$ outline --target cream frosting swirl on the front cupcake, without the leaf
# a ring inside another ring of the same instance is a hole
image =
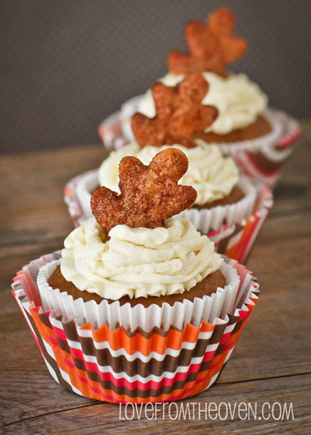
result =
[[[109,236],[103,241],[100,224],[88,219],[65,239],[60,263],[67,281],[102,298],[184,293],[223,263],[187,219],[173,217],[156,229],[117,225]]]

